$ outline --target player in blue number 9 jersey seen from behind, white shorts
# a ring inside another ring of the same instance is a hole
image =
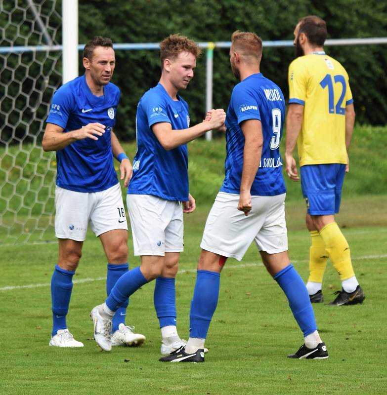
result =
[[[289,357],[328,358],[305,285],[289,260],[286,189],[279,152],[285,99],[281,89],[260,73],[261,57],[262,40],[255,33],[233,33],[230,63],[241,82],[234,87],[227,109],[225,178],[200,244],[190,337],[186,346],[162,357],[163,362],[204,362],[220,273],[228,257],[242,260],[253,241],[267,271],[287,296],[303,332],[304,344]]]

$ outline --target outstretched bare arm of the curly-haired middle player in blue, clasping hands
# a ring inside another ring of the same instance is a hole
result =
[[[209,121],[203,121],[188,129],[174,130],[169,122],[155,123],[151,126],[151,129],[163,148],[169,151],[196,139],[209,130],[221,127],[225,118],[226,113],[224,110],[217,109],[212,112],[212,117]]]

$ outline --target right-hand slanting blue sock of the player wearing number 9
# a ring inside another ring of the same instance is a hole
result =
[[[282,269],[274,276],[274,279],[285,292],[290,309],[303,332],[303,336],[305,337],[317,330],[308,291],[293,265]]]

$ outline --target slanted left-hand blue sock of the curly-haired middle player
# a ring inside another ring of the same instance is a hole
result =
[[[110,295],[105,301],[107,307],[111,311],[116,312],[127,302],[127,299],[132,293],[147,282],[149,281],[142,275],[139,266],[129,270],[129,272],[126,272],[117,280],[111,290]]]

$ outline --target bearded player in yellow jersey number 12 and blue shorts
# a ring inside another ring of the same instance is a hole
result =
[[[289,66],[289,111],[286,119],[286,172],[299,181],[293,151],[298,145],[301,189],[310,232],[309,278],[311,302],[323,302],[322,281],[328,257],[342,280],[342,290],[330,305],[354,305],[365,299],[352,268],[348,242],[335,222],[355,112],[348,74],[324,52],[325,22],[302,18],[294,31],[296,56]]]

